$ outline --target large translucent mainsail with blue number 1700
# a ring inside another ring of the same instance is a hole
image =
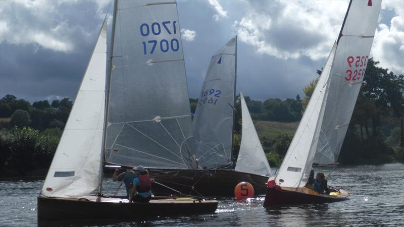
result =
[[[195,168],[175,1],[117,1],[106,153],[109,163]]]

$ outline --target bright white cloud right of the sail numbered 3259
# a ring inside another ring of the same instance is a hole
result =
[[[379,24],[372,46],[372,56],[380,67],[395,74],[404,74],[404,7],[401,1],[384,1],[382,9],[391,10],[394,16],[390,25]]]

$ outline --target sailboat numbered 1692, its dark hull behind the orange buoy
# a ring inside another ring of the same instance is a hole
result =
[[[198,97],[192,122],[198,168],[160,170],[151,175],[169,188],[184,194],[233,197],[236,185],[248,182],[256,195],[266,192],[265,183],[271,171],[243,98],[241,148],[236,169],[231,169],[236,52],[237,37],[234,37],[212,56]],[[155,191],[173,193],[167,187],[155,187]]]

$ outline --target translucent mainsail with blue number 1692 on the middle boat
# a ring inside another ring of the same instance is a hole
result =
[[[199,166],[215,168],[231,163],[236,37],[211,58],[193,119]]]

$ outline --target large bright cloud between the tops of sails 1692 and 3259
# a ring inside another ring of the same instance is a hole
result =
[[[346,2],[249,2],[233,27],[256,52],[280,59],[328,55],[345,14]]]

